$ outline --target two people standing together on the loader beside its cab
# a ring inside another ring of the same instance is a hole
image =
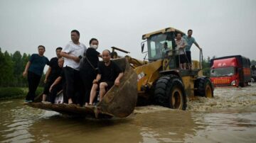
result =
[[[202,50],[201,47],[196,42],[195,38],[192,37],[193,30],[188,30],[188,35],[182,37],[181,33],[176,35],[176,50],[178,56],[176,61],[179,61],[180,69],[191,69],[191,46],[193,43],[198,47],[199,50]]]

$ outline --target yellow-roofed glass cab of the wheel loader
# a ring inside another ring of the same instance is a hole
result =
[[[176,56],[178,55],[178,50],[176,50],[175,44],[177,33],[181,33],[182,36],[185,35],[185,33],[174,28],[165,28],[154,33],[142,35],[142,39],[145,40],[142,42],[142,52],[144,44],[146,44],[149,62],[163,60],[164,71],[179,69],[179,57]]]

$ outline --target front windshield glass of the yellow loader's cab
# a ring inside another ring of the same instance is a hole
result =
[[[152,35],[147,40],[149,60],[161,59],[166,51],[172,50],[171,33]]]

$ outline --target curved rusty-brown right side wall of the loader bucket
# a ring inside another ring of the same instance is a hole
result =
[[[125,57],[113,61],[124,71],[124,76],[119,87],[112,86],[107,91],[102,101],[97,104],[97,109],[100,110],[100,113],[124,118],[133,112],[137,103],[137,74]]]

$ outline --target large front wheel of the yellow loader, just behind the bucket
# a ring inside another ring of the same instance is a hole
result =
[[[186,93],[178,76],[162,76],[156,81],[154,91],[156,105],[168,108],[186,110]]]

